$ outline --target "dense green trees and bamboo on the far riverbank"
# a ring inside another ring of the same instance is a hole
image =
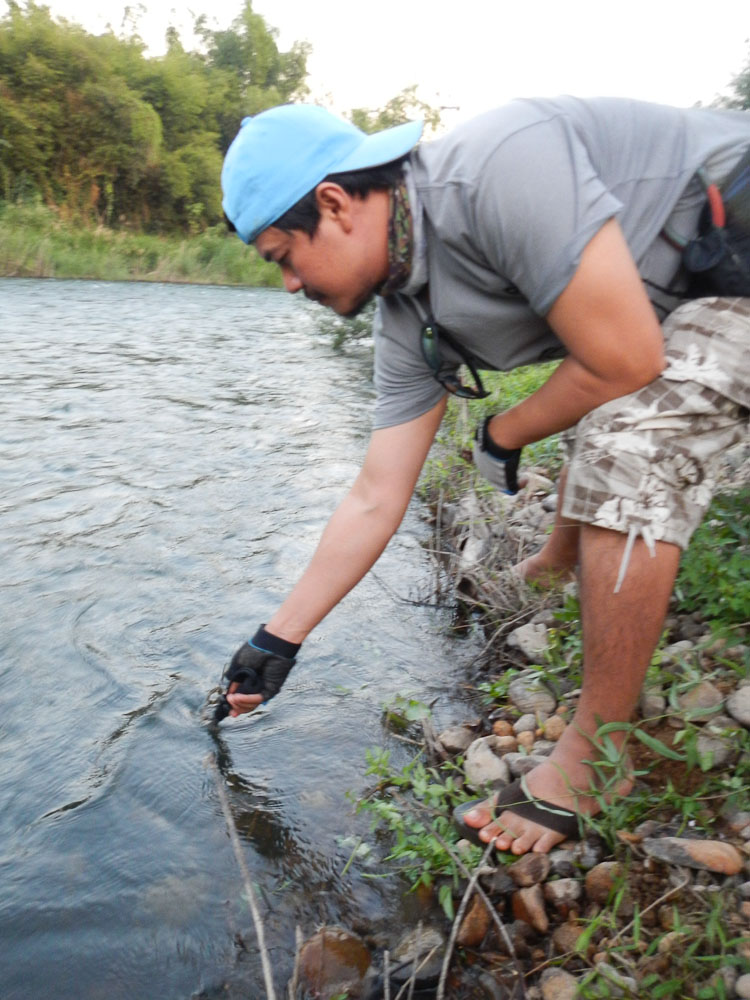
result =
[[[280,52],[246,0],[231,28],[176,31],[147,58],[129,37],[88,34],[11,0],[0,19],[0,199],[41,199],[62,218],[152,231],[221,218],[224,151],[248,114],[305,93],[308,46]]]

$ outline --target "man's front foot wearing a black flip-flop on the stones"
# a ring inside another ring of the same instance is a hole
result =
[[[605,772],[607,787],[602,788],[602,778],[590,764],[585,763],[596,760],[598,756],[591,741],[573,730],[572,726],[569,727],[549,760],[526,775],[525,786],[529,796],[543,800],[547,807],[556,806],[579,816],[596,815],[601,810],[602,796],[610,800],[627,795],[633,787],[629,775],[607,780],[609,776]],[[591,794],[597,787],[600,788],[599,796]],[[520,816],[512,809],[506,809],[493,820],[490,801],[467,812],[462,819],[467,826],[479,830],[479,839],[483,843],[488,844],[494,839],[497,850],[513,854],[529,851],[546,854],[565,839],[562,833],[542,822]]]

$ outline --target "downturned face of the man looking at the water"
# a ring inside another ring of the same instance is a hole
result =
[[[314,236],[269,226],[255,247],[265,260],[279,265],[288,292],[302,291],[340,316],[352,316],[388,276],[387,216],[383,225],[377,193],[361,200],[338,192],[340,188],[324,199]]]

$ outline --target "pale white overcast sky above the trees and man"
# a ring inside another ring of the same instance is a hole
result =
[[[54,16],[119,31],[124,0],[45,0]],[[416,83],[446,123],[514,97],[595,94],[689,106],[726,92],[750,57],[750,0],[255,0],[282,49],[312,45],[311,99],[378,107]],[[241,0],[131,4],[149,50],[206,13],[229,27]],[[0,0],[0,12],[7,10]]]

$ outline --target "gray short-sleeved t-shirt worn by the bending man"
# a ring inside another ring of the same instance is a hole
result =
[[[563,97],[516,101],[419,146],[408,177],[413,278],[379,300],[375,323],[375,427],[414,419],[444,394],[421,353],[428,314],[480,368],[562,356],[544,317],[613,217],[667,315],[679,253],[660,234],[669,223],[694,235],[705,201],[696,171],[720,180],[748,145],[746,112]]]

